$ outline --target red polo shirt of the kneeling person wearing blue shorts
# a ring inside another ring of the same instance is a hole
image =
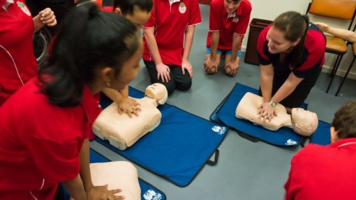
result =
[[[250,1],[242,0],[239,8],[232,15],[228,14],[224,6],[225,0],[213,0],[210,6],[209,33],[207,47],[212,43],[212,31],[219,31],[218,49],[232,49],[232,36],[238,34],[244,37],[249,26],[252,6]]]

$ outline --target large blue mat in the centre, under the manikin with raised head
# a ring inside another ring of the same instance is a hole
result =
[[[132,88],[129,94],[133,98],[144,97],[144,93]],[[105,98],[101,99],[102,107],[110,103]],[[165,104],[158,109],[162,114],[160,125],[125,151],[98,137],[96,141],[175,185],[186,187],[206,163],[216,164],[217,148],[228,128],[172,105]],[[215,162],[212,162],[209,158],[214,153]]]

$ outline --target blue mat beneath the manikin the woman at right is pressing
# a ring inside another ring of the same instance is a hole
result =
[[[221,123],[234,128],[237,132],[247,134],[255,141],[261,140],[276,146],[298,146],[301,143],[303,137],[290,128],[282,127],[279,130],[271,131],[259,125],[253,125],[250,121],[236,118],[235,109],[246,92],[258,94],[257,89],[243,84],[235,84],[228,97],[223,100],[222,104],[212,114],[212,121],[221,121]]]

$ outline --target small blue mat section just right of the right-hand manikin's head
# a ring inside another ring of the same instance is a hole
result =
[[[318,129],[311,135],[310,143],[328,145],[331,143],[329,123],[319,121]]]

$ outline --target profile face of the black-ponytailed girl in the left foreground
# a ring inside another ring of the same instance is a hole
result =
[[[135,54],[131,56],[131,58],[127,59],[124,65],[122,66],[121,72],[117,75],[116,78],[111,78],[111,86],[110,88],[121,91],[128,85],[135,77],[138,75],[138,71],[140,70],[140,60],[142,57],[142,40],[138,45],[138,49],[136,49]],[[112,70],[113,72],[113,70]]]

